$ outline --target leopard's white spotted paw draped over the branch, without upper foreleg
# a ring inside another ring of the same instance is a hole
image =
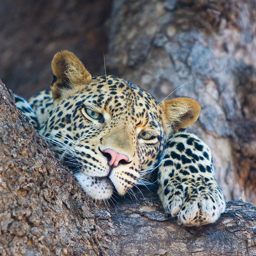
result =
[[[215,180],[208,184],[204,178],[197,182],[192,179],[178,186],[168,184],[159,192],[165,211],[184,226],[214,223],[225,211],[225,200]]]

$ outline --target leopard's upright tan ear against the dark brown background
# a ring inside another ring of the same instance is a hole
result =
[[[88,84],[92,76],[83,63],[70,51],[59,51],[51,62],[53,81],[51,90],[53,99],[61,97],[65,89],[72,89],[78,85]]]

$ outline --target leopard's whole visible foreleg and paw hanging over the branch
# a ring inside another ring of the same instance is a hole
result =
[[[211,151],[195,134],[180,132],[168,140],[158,178],[165,211],[185,226],[213,223],[225,211]]]

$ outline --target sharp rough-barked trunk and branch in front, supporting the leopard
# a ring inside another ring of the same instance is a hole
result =
[[[0,255],[255,255],[256,208],[228,203],[215,224],[178,226],[154,193],[92,202],[0,81]]]

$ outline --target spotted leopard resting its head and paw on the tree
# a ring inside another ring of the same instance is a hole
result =
[[[51,62],[49,89],[28,101],[28,117],[93,200],[156,184],[165,213],[184,226],[214,223],[225,211],[209,147],[186,132],[200,114],[192,97],[157,102],[128,80],[92,77],[74,53]]]

